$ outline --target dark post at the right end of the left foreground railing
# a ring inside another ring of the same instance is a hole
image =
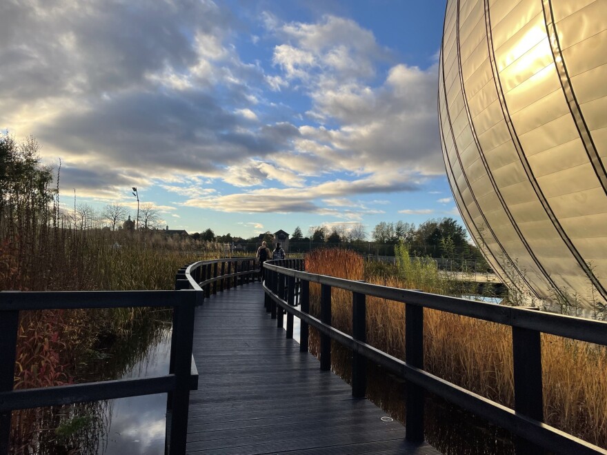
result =
[[[185,293],[185,292],[184,292]],[[195,292],[186,295],[173,310],[175,338],[175,391],[172,393],[172,412],[169,454],[185,454],[188,436],[188,410],[190,407],[190,371],[192,367],[192,341],[194,338]]]

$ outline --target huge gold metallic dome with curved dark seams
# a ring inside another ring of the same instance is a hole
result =
[[[448,0],[438,104],[455,201],[515,300],[597,314],[607,0]]]

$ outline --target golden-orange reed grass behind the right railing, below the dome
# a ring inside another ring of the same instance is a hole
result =
[[[317,250],[306,257],[312,273],[361,279],[391,287],[437,292],[448,289],[423,262],[408,261],[394,267],[371,266],[346,250]],[[406,276],[406,278],[404,278]],[[332,293],[332,325],[351,334],[350,292]],[[319,285],[310,284],[310,311],[319,314]],[[404,304],[367,297],[367,341],[393,356],[404,359]],[[310,351],[317,354],[319,336],[310,333]],[[335,349],[332,368],[348,378],[350,353]],[[607,348],[568,338],[542,334],[541,354],[544,383],[544,416],[549,425],[590,443],[607,447]],[[424,363],[428,372],[465,387],[508,407],[514,405],[513,354],[510,327],[477,319],[424,310]],[[381,380],[376,376],[377,381]],[[376,403],[396,418],[403,418],[403,404],[386,396],[386,387],[375,387]],[[370,391],[374,389],[370,387]],[[397,393],[398,394],[398,393]],[[370,398],[373,399],[372,396]],[[396,404],[395,404],[396,403]]]

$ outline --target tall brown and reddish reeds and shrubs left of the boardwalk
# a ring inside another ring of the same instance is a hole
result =
[[[170,290],[179,267],[219,256],[219,245],[161,231],[77,230],[61,210],[52,182],[52,169],[41,165],[34,139],[17,144],[0,135],[0,290]],[[170,312],[154,308],[22,311],[14,388],[117,378],[166,328],[168,318]],[[118,355],[116,347],[126,352]],[[112,361],[99,368],[100,356]],[[99,440],[100,406],[13,412],[12,453],[91,449]],[[61,437],[50,425],[63,427]],[[81,447],[73,446],[77,441],[67,430],[82,435]]]

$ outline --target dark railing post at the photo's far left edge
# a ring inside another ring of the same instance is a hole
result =
[[[14,384],[18,330],[19,311],[0,312],[0,392],[10,392]],[[10,411],[0,414],[0,454],[8,454],[10,449],[10,414]]]

